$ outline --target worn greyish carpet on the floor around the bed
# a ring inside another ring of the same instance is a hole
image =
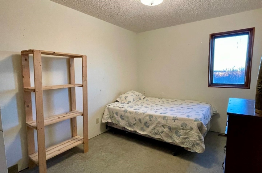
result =
[[[173,156],[173,145],[131,133],[108,131],[89,140],[89,152],[75,147],[47,161],[48,173],[219,173],[223,172],[226,137],[208,132],[203,154],[182,150]],[[22,173],[38,172],[35,169]]]

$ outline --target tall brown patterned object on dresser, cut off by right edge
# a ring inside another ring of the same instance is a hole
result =
[[[255,112],[262,114],[262,57],[260,61],[257,83],[256,83]]]

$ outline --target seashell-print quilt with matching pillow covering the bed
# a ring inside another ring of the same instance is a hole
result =
[[[203,153],[204,137],[215,113],[209,103],[145,97],[129,91],[106,106],[102,123]]]

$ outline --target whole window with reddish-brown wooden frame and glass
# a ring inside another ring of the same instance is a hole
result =
[[[250,88],[254,31],[210,34],[208,87]]]

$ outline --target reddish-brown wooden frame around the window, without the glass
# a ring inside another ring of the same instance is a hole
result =
[[[248,33],[248,50],[246,57],[245,66],[245,83],[244,84],[218,84],[213,83],[213,71],[214,71],[214,41],[215,38],[223,38],[225,36],[239,36]],[[255,27],[240,29],[235,31],[218,32],[209,35],[209,61],[208,61],[208,87],[219,87],[219,88],[246,88],[250,89],[251,80],[251,66],[252,66],[252,55],[253,55],[253,44],[255,36]],[[215,37],[215,38],[214,38]]]

